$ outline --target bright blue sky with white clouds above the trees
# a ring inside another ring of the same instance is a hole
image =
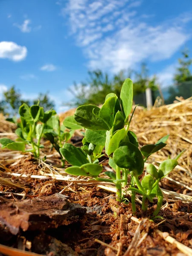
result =
[[[111,75],[148,64],[162,87],[180,51],[192,56],[192,0],[0,0],[0,98],[49,91],[58,112],[67,90],[100,68]]]

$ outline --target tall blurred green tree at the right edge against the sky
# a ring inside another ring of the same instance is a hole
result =
[[[188,49],[184,49],[182,58],[179,58],[178,62],[179,67],[173,79],[175,85],[171,86],[168,90],[170,96],[165,101],[166,104],[174,102],[176,96],[182,96],[184,99],[192,96],[192,73],[190,71],[192,59],[189,58]]]

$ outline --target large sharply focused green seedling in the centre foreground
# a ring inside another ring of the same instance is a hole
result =
[[[77,108],[74,116],[69,117],[66,123],[68,122],[71,128],[73,126],[71,122],[75,121],[85,128],[83,146],[75,148],[73,145],[65,144],[60,152],[72,165],[65,170],[67,173],[114,183],[117,201],[121,202],[124,199],[122,195],[126,193],[127,189],[131,190],[133,213],[136,212],[136,193],[143,195],[143,211],[148,208],[148,201],[153,203],[153,198],[156,197],[157,208],[153,213],[156,216],[163,202],[163,194],[158,183],[175,168],[180,155],[175,159],[163,161],[158,171],[155,166],[149,164],[148,174],[140,181],[139,176],[144,171],[145,161],[151,154],[166,146],[169,135],[161,138],[154,145],[143,146],[140,150],[136,134],[129,130],[135,111],[134,109],[130,116],[132,103],[133,83],[131,79],[126,79],[122,85],[120,100],[114,93],[110,93],[106,96],[102,108],[96,105],[82,105]],[[102,156],[104,145],[105,153],[109,157],[109,165],[114,170],[105,172],[108,179],[99,177],[102,166],[98,159]],[[129,187],[128,175],[131,176]],[[122,193],[122,189],[125,190],[124,193]]]

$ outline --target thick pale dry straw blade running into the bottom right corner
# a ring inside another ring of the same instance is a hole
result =
[[[131,217],[131,219],[137,223],[141,223],[140,220],[138,220],[135,217]],[[170,244],[175,244],[177,249],[179,249],[182,253],[184,253],[187,256],[192,256],[192,249],[187,247],[184,244],[181,244],[178,242],[175,238],[172,236],[169,236],[169,233],[167,232],[161,232],[160,230],[154,230],[158,235],[160,235],[165,241],[169,242]],[[125,255],[124,255],[125,256]]]

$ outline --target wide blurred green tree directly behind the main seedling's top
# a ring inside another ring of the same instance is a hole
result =
[[[121,70],[111,79],[107,73],[103,73],[101,70],[89,71],[88,75],[89,78],[86,82],[74,83],[74,87],[69,88],[74,95],[74,102],[67,102],[64,105],[70,107],[84,104],[100,105],[105,102],[105,96],[108,93],[116,93],[120,97],[121,87],[126,78],[133,79],[134,77],[134,96],[145,92],[147,87],[157,90],[156,77],[149,78],[146,64],[142,64],[141,70],[138,72]]]

